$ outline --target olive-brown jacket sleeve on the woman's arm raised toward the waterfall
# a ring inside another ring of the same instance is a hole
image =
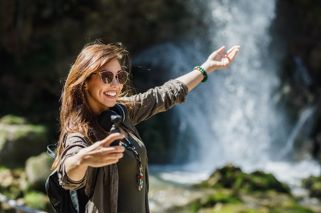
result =
[[[175,104],[184,103],[187,93],[188,88],[183,82],[169,80],[162,86],[123,98],[123,100],[133,103],[133,107],[129,109],[128,115],[134,125],[136,125],[158,112],[172,108]]]

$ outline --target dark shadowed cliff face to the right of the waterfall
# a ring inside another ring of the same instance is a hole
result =
[[[298,111],[315,107],[303,142],[310,140],[313,156],[321,160],[321,2],[278,0],[272,29],[274,46],[284,52],[279,76],[290,88],[283,100],[293,120]]]

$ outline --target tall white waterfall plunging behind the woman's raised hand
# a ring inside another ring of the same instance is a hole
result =
[[[191,3],[192,11],[198,11],[199,3],[207,4],[209,10],[204,22],[213,27],[208,32],[200,33],[194,42],[156,45],[134,59],[136,63],[162,65],[170,70],[170,77],[175,78],[207,59],[202,46],[213,51],[222,45],[226,50],[232,45],[240,45],[230,67],[209,75],[206,83],[200,83],[188,94],[186,103],[172,109],[179,124],[179,134],[174,138],[177,159],[182,157],[179,149],[190,145],[189,159],[178,167],[173,165],[175,169],[164,173],[163,177],[175,179],[173,170],[179,168],[181,172],[197,171],[195,179],[199,180],[200,173],[209,174],[227,163],[245,172],[258,169],[272,172],[286,181],[291,177],[284,172],[289,175],[290,168],[297,169],[293,173],[296,177],[298,173],[301,176],[318,174],[316,162],[309,159],[289,162],[280,157],[284,152],[293,152],[287,147],[292,146],[295,138],[291,131],[295,130],[273,99],[280,84],[277,64],[269,50],[272,40],[269,28],[275,16],[275,2],[197,1]],[[201,35],[207,38],[202,39]],[[209,43],[204,43],[205,40]],[[308,112],[303,119],[312,116],[311,110]],[[187,137],[187,133],[192,138]],[[187,143],[188,140],[194,140],[194,143]],[[188,178],[191,181],[193,177],[189,175]]]

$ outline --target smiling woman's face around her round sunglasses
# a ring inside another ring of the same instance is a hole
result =
[[[96,70],[94,73],[97,74],[91,75],[86,79],[84,84],[85,96],[95,116],[109,109],[109,107],[115,106],[116,100],[123,89],[123,85],[117,82],[116,76],[114,76],[110,84],[104,84],[101,81],[101,75],[98,74],[98,72],[103,70],[110,70],[117,74],[122,70],[122,67],[117,60],[113,60],[102,66],[99,70]]]

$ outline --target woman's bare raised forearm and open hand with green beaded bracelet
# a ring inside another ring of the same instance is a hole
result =
[[[222,46],[222,48],[214,51],[202,65],[176,79],[185,83],[188,90],[191,91],[197,84],[205,80],[205,78],[207,78],[206,76],[212,73],[215,69],[228,67],[234,60],[239,50],[239,46],[233,46],[226,53],[224,53],[224,50],[225,46]]]

